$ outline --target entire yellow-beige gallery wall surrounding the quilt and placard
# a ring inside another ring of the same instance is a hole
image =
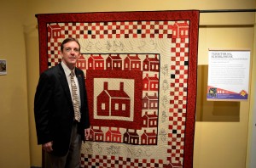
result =
[[[255,2],[255,0],[217,0],[214,3],[212,0],[5,0],[0,5],[2,39],[0,59],[8,60],[8,75],[0,76],[0,148],[2,150],[0,167],[27,168],[41,165],[41,150],[37,145],[33,120],[33,98],[39,77],[38,29],[35,14],[255,8]],[[254,23],[254,13],[201,14],[198,64],[207,65],[208,48],[247,48],[253,52]],[[253,76],[255,76],[256,60],[253,53],[252,59]],[[198,82],[201,88],[204,84],[202,81]],[[252,80],[252,85],[254,83],[255,78]],[[248,123],[252,122],[249,120],[249,116],[253,115],[252,108],[250,101],[241,102],[238,121],[218,121],[218,115],[214,115],[217,121],[196,122],[195,168],[245,167],[246,160],[250,160],[250,157],[247,157],[247,136],[250,136]],[[211,113],[210,110],[211,107],[207,112]]]

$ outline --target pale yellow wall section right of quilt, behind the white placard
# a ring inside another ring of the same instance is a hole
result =
[[[201,14],[200,25],[199,66],[207,65],[208,48],[250,49],[253,62],[255,62],[255,57],[253,58],[253,13]],[[252,71],[252,73],[255,76],[255,72]],[[207,78],[206,81],[198,81],[200,94],[197,95],[197,109],[201,109],[203,113],[201,115],[207,115],[207,120],[202,117],[202,120],[195,123],[194,166],[195,168],[246,167],[248,120],[250,113],[253,112],[250,109],[250,102],[241,102],[238,105],[239,113],[237,114],[227,105],[228,103],[207,102],[205,100],[206,86]],[[207,104],[201,104],[201,98],[204,98],[203,101]],[[226,107],[219,107],[220,105]],[[227,111],[220,111],[220,109]],[[196,115],[199,116],[199,114]]]

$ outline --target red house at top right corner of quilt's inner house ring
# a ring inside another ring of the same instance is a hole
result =
[[[159,72],[159,59],[157,58],[158,54],[154,54],[154,58],[148,58],[143,60],[143,70],[144,71],[154,71]]]

